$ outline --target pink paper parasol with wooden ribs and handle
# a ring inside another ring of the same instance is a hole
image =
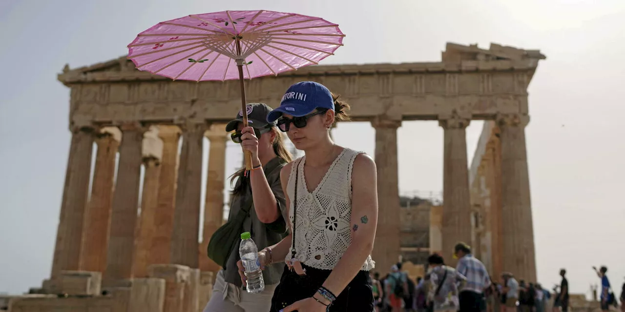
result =
[[[241,80],[317,64],[345,35],[320,17],[274,11],[223,11],[159,22],[128,45],[137,69],[174,80]],[[245,155],[251,169],[251,155]]]

